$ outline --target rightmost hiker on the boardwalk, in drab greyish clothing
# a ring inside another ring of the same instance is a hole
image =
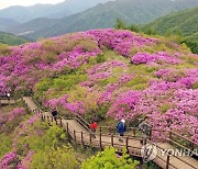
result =
[[[150,134],[150,124],[147,122],[147,119],[145,117],[144,119],[144,122],[142,122],[140,125],[139,125],[139,131],[141,132],[141,144],[144,145],[145,142],[146,142],[146,138]]]

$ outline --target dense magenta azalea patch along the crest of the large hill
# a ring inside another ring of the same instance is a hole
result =
[[[87,34],[92,35],[99,46],[106,46],[127,57],[130,56],[133,47],[152,46],[157,42],[155,38],[145,38],[125,30],[91,30]]]

